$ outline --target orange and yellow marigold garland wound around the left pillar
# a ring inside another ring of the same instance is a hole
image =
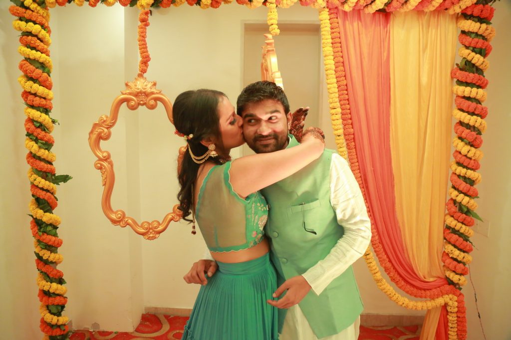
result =
[[[66,2],[47,0],[42,4],[63,6]],[[74,2],[78,6],[84,4],[84,0]],[[66,288],[59,283],[65,281],[63,273],[55,268],[55,265],[62,262],[63,257],[57,253],[62,240],[57,235],[60,217],[53,213],[57,207],[57,199],[54,195],[57,189],[56,184],[65,182],[70,177],[56,175],[52,164],[56,156],[50,151],[55,143],[51,135],[54,120],[50,117],[53,109],[53,92],[51,91],[53,83],[50,75],[53,64],[48,49],[51,44],[50,14],[48,9],[43,8],[39,3],[25,0],[18,6],[11,6],[9,12],[16,17],[13,28],[22,32],[18,52],[24,60],[18,64],[22,72],[18,81],[24,90],[21,98],[27,106],[25,108],[27,118],[24,125],[28,137],[25,145],[29,150],[26,160],[30,166],[28,170],[30,191],[35,197],[30,201],[29,210],[33,217],[30,229],[34,237],[35,264],[39,271],[36,281],[41,302],[40,329],[44,333],[43,338],[57,340],[67,338],[69,328],[65,325],[68,322],[67,317],[61,315],[67,298],[63,296]],[[45,280],[45,277],[52,282]],[[48,305],[51,305],[51,308]]]

